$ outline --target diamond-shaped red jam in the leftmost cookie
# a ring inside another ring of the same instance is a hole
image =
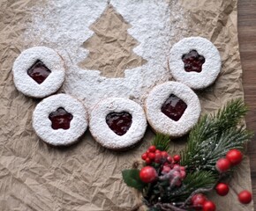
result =
[[[41,62],[37,60],[30,69],[27,69],[27,75],[31,76],[37,84],[41,84],[49,76],[51,71]]]

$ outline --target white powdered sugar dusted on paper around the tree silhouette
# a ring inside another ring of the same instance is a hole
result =
[[[141,67],[126,69],[124,78],[106,78],[98,70],[78,66],[88,55],[82,44],[94,34],[89,26],[101,16],[107,1],[56,0],[38,4],[25,33],[27,43],[34,40],[34,45],[53,47],[64,57],[68,70],[63,90],[84,100],[90,109],[106,97],[132,98],[142,105],[143,96],[155,84],[171,77],[169,48],[182,36],[181,28],[186,28],[184,11],[176,0],[169,4],[157,0],[112,0],[110,4],[132,25],[128,33],[139,41],[134,53],[147,60]]]

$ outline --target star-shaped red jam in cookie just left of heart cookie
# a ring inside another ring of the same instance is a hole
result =
[[[72,113],[66,112],[63,107],[56,109],[56,112],[49,113],[49,120],[51,120],[51,127],[53,129],[69,129],[71,120],[73,119]]]

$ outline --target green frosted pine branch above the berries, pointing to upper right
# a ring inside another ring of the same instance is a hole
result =
[[[204,115],[193,127],[181,164],[187,171],[215,171],[216,161],[230,149],[243,149],[252,137],[245,128],[237,128],[247,109],[241,99],[232,100],[216,115]],[[215,173],[217,173],[215,171]]]

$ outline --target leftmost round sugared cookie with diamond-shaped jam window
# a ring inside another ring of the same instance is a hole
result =
[[[44,98],[64,83],[64,61],[49,47],[31,47],[18,56],[12,73],[19,91],[29,97]]]

